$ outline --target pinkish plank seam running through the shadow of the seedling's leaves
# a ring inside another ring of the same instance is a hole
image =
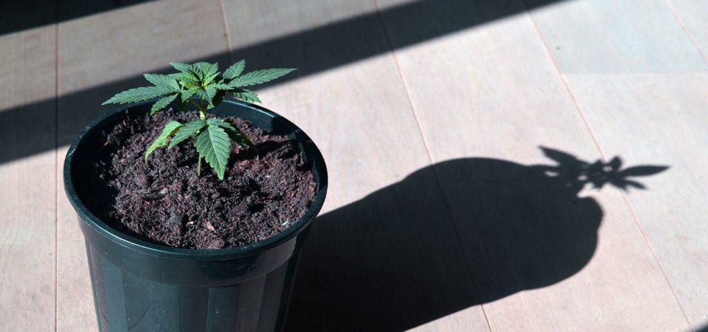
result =
[[[541,40],[544,49],[547,52],[548,57],[551,59],[553,62],[554,67],[556,68],[556,72],[558,76],[561,78],[561,81],[563,81],[564,86],[566,87],[566,91],[568,91],[569,96],[573,100],[573,104],[576,107],[576,110],[578,111],[578,114],[580,115],[581,119],[583,120],[583,124],[586,126],[586,129],[588,130],[588,133],[590,134],[590,137],[593,139],[593,143],[595,144],[595,148],[598,149],[598,152],[600,153],[600,158],[603,160],[603,163],[607,164],[607,158],[605,158],[605,153],[603,152],[603,149],[600,147],[600,143],[598,142],[597,137],[595,136],[595,132],[593,132],[592,126],[590,126],[590,122],[588,122],[585,113],[583,112],[583,108],[581,107],[580,103],[578,102],[578,99],[575,96],[575,93],[573,93],[573,89],[570,86],[569,81],[566,79],[565,74],[563,74],[563,70],[561,69],[561,66],[556,59],[556,57],[553,56],[553,53],[551,52],[550,47],[548,46],[548,42],[546,39],[543,37],[543,34],[541,33],[541,30],[538,27],[538,24],[536,23],[535,18],[532,16],[531,12],[529,11],[529,6],[526,5],[525,1],[522,1],[523,6],[526,9],[526,14],[528,18],[530,19],[531,23],[534,26],[534,29],[536,30],[537,35],[539,36],[539,39]],[[612,175],[614,176],[614,174]],[[671,295],[673,296],[674,301],[676,304],[678,304],[678,308],[681,311],[681,314],[683,314],[683,318],[687,321],[688,326],[690,326],[691,331],[695,332],[695,329],[693,328],[693,325],[691,324],[690,320],[688,319],[688,316],[686,315],[686,311],[683,308],[683,305],[678,299],[678,296],[674,290],[673,285],[668,279],[668,275],[666,274],[666,271],[663,268],[663,265],[661,264],[661,261],[658,258],[658,255],[656,254],[656,251],[654,251],[653,246],[651,245],[651,241],[649,241],[649,236],[647,236],[646,232],[644,231],[644,227],[641,226],[641,222],[639,222],[639,217],[636,215],[634,212],[634,209],[632,208],[632,205],[629,203],[629,198],[627,198],[627,194],[624,190],[619,190],[621,195],[622,195],[622,200],[624,200],[624,204],[627,205],[627,208],[629,209],[630,214],[632,214],[632,219],[634,219],[634,224],[636,224],[636,227],[639,229],[639,232],[642,237],[644,237],[644,243],[646,246],[649,248],[649,252],[651,253],[659,271],[661,272],[661,275],[663,276],[664,281],[666,281],[666,285],[668,286]]]

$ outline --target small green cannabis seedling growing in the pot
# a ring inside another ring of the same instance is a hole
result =
[[[219,180],[224,180],[224,171],[231,154],[232,140],[241,147],[250,147],[256,152],[256,155],[258,151],[256,151],[256,145],[253,144],[251,138],[241,132],[234,122],[219,118],[207,119],[207,110],[219,105],[227,93],[241,101],[261,103],[256,93],[245,89],[244,86],[265,83],[295,69],[261,69],[241,75],[246,67],[246,61],[241,60],[232,64],[221,75],[219,64],[209,62],[195,64],[171,62],[170,64],[179,72],[169,75],[144,74],[145,79],[154,86],[122,91],[105,101],[103,105],[137,103],[159,98],[150,110],[150,115],[153,115],[173,102],[177,103],[182,112],[184,112],[187,103],[193,103],[199,108],[199,118],[187,123],[168,122],[162,133],[145,151],[145,162],[154,149],[167,144],[167,139],[171,138],[168,146],[168,149],[171,149],[184,142],[185,139],[194,137],[194,147],[199,154],[198,174],[202,168],[203,158],[217,172]],[[195,100],[196,98],[198,101]]]

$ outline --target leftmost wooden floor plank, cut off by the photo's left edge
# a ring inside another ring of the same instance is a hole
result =
[[[50,13],[53,12],[50,8]],[[55,26],[0,35],[0,329],[55,324]],[[31,134],[38,127],[41,132]]]

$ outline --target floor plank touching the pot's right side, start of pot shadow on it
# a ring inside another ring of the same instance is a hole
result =
[[[457,259],[461,251],[396,64],[390,53],[370,57],[388,47],[378,16],[242,52],[268,31],[297,32],[293,21],[308,27],[338,16],[340,4],[349,12],[376,11],[370,1],[318,4],[316,13],[300,16],[297,5],[282,1],[224,1],[235,59],[246,57],[251,68],[299,68],[297,79],[258,93],[265,107],[319,144],[329,169],[326,207],[302,248],[287,329],[400,331],[465,309],[474,302],[469,273]],[[238,15],[255,8],[287,20],[251,23]],[[261,28],[234,34],[251,24]],[[462,321],[486,328],[479,307]]]

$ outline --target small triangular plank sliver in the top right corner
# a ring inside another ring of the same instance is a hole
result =
[[[703,58],[706,59],[708,56],[708,22],[706,20],[708,6],[702,1],[695,0],[667,0],[666,2],[702,52]]]

